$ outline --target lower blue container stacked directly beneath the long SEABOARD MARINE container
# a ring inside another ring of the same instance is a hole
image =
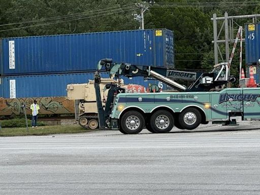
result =
[[[108,78],[107,73],[102,73],[103,78]],[[67,85],[71,83],[86,83],[93,80],[93,73],[51,74],[10,76],[1,78],[0,97],[2,98],[33,98],[46,96],[67,96]],[[133,79],[123,78],[125,84],[139,84],[145,87],[148,83],[158,84],[158,81],[144,81],[143,77]]]

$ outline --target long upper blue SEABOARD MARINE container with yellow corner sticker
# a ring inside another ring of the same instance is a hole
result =
[[[0,73],[4,76],[92,72],[105,57],[174,68],[173,31],[127,30],[0,41]]]

